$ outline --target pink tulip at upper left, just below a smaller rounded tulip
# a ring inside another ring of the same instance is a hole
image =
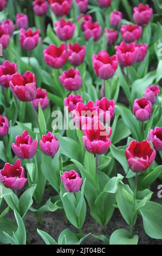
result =
[[[33,50],[37,46],[39,38],[40,29],[37,29],[34,32],[31,30],[31,28],[29,28],[27,31],[25,31],[24,28],[20,29],[20,45],[24,50]]]

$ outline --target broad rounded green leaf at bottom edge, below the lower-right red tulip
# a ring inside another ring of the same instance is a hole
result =
[[[137,245],[138,235],[131,237],[126,229],[117,229],[109,239],[110,245]]]

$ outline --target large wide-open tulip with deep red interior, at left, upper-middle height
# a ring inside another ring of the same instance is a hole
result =
[[[18,72],[11,77],[10,89],[21,101],[33,101],[36,97],[35,75],[30,71],[20,75]]]

